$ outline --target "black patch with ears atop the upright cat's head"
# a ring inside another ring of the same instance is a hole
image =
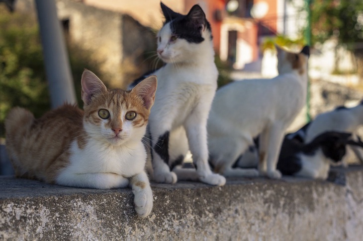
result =
[[[210,24],[199,5],[194,5],[187,15],[174,12],[163,3],[161,6],[166,19],[164,24],[170,22],[172,33],[178,38],[197,44],[204,41],[201,34],[203,28],[206,27],[211,32]]]

